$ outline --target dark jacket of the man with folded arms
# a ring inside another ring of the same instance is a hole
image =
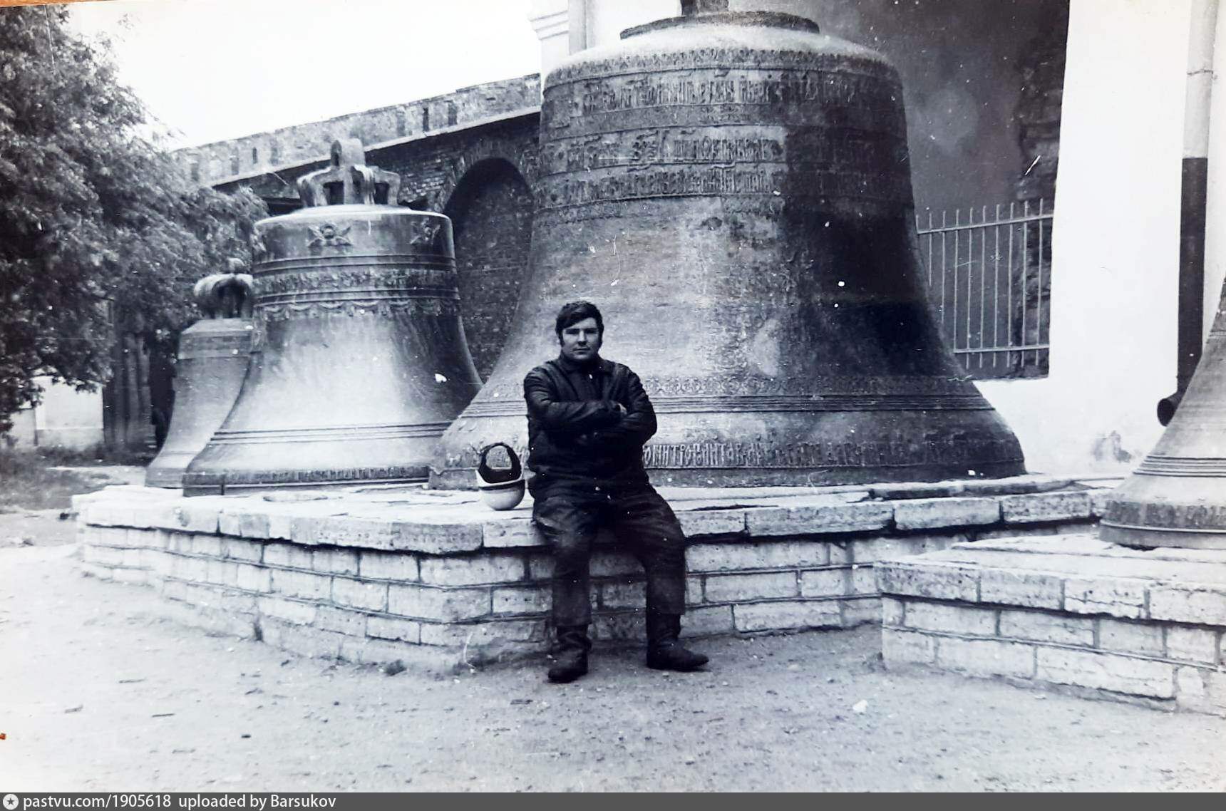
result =
[[[656,412],[629,366],[603,358],[576,364],[559,356],[527,374],[524,397],[535,496],[555,489],[617,490],[647,483],[642,446],[656,432]]]

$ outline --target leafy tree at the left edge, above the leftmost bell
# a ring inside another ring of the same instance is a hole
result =
[[[248,190],[199,187],[116,81],[109,47],[64,7],[0,9],[0,432],[36,375],[92,390],[115,322],[173,343],[191,283],[248,257],[266,216]]]

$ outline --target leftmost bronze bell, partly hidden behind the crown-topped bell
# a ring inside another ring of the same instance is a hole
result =
[[[145,486],[180,488],[183,472],[208,442],[238,398],[251,354],[251,277],[213,273],[192,295],[205,317],[179,336],[174,417],[162,451],[145,469]]]

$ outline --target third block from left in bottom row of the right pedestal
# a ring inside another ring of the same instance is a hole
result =
[[[1175,665],[1101,651],[1042,647],[1037,677],[1132,696],[1171,698],[1175,695]]]

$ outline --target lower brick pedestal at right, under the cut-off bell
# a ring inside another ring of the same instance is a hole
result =
[[[881,560],[877,577],[890,668],[1226,714],[1226,553],[1016,538]]]

